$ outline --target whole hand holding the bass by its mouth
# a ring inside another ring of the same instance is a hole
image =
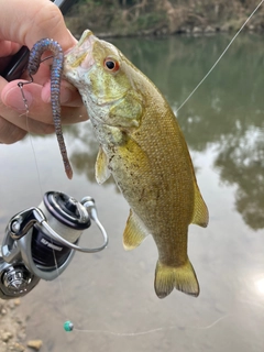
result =
[[[64,51],[76,44],[67,30],[59,9],[50,0],[0,0],[0,72],[8,59],[25,45],[31,48],[43,37],[56,40]],[[13,21],[10,21],[13,19]],[[0,143],[20,141],[28,132],[48,134],[54,132],[50,95],[50,68],[41,64],[34,81],[23,87],[29,114],[19,81],[29,79],[26,73],[21,79],[8,82],[0,76]],[[62,123],[87,120],[87,112],[75,87],[62,81]]]

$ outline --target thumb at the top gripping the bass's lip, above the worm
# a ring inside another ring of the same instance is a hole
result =
[[[12,0],[10,6],[10,1],[0,0],[0,38],[31,48],[38,40],[52,37],[59,42],[64,51],[76,43],[65,25],[62,12],[52,1]]]

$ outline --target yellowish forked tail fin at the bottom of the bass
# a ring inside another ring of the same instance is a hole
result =
[[[158,298],[165,298],[174,288],[197,297],[200,288],[190,261],[182,266],[168,266],[157,261],[155,272],[155,292]]]

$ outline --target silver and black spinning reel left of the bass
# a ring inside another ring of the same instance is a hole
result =
[[[81,248],[80,235],[91,220],[100,230],[102,244]],[[41,279],[57,278],[76,251],[96,253],[107,244],[108,234],[91,197],[77,201],[64,193],[47,191],[38,207],[25,209],[8,222],[0,248],[0,298],[26,295]]]

